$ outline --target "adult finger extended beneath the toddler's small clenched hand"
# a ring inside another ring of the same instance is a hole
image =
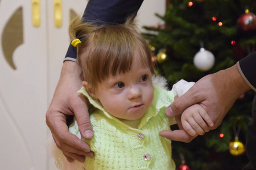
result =
[[[159,132],[160,137],[164,137],[170,139],[172,141],[180,141],[180,142],[191,142],[195,137],[192,137],[184,130],[162,130]]]

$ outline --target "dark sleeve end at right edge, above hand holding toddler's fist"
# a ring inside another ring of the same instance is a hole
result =
[[[256,91],[256,52],[253,52],[237,63],[238,70],[246,83]]]

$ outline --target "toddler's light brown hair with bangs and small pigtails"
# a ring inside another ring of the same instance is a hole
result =
[[[124,24],[97,25],[82,23],[76,17],[69,25],[71,39],[84,37],[77,46],[77,62],[82,69],[82,79],[94,87],[109,75],[130,71],[134,53],[138,52],[143,66],[155,74],[151,50],[137,30],[132,16]]]

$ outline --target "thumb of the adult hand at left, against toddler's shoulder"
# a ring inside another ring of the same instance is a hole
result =
[[[84,96],[80,95],[81,101],[83,101],[80,107],[73,108],[77,123],[79,124],[79,131],[87,140],[90,140],[94,137],[92,124],[90,123],[90,117],[88,112],[88,107],[85,105],[87,103],[84,99]]]

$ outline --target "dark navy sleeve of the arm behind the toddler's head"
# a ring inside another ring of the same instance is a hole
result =
[[[85,8],[82,20],[122,24],[130,14],[137,14],[143,0],[90,0]],[[70,44],[65,60],[76,59],[76,48]]]

